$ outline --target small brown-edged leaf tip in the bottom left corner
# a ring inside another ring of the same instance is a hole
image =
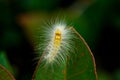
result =
[[[15,80],[11,73],[0,64],[0,80]]]

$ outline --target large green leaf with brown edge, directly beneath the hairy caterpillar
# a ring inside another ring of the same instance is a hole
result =
[[[67,60],[66,64],[52,68],[42,68],[41,59],[38,62],[32,80],[97,80],[94,56],[85,40],[74,29],[78,39],[75,41],[75,55],[71,55],[72,61]],[[43,57],[44,54],[41,56]]]

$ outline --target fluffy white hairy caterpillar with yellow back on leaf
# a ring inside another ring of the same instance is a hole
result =
[[[67,57],[74,52],[75,35],[64,22],[55,22],[42,28],[39,34],[42,60],[46,65],[66,63]]]

